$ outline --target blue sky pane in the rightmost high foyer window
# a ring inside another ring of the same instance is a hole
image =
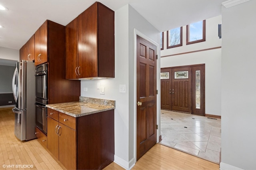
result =
[[[189,41],[203,39],[203,21],[191,23],[189,25]]]

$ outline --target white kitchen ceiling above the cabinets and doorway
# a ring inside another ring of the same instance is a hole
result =
[[[98,0],[116,11],[130,4],[159,32],[221,15],[226,0]],[[95,0],[0,0],[0,47],[20,49],[45,20],[67,25]]]

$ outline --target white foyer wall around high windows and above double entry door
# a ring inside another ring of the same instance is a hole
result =
[[[161,50],[161,68],[205,64],[205,112],[221,115],[221,48],[183,55],[174,55],[221,46],[218,37],[218,24],[221,16],[206,20],[206,41],[186,45],[186,26],[183,26],[183,45],[166,49],[166,31],[164,32],[164,50]],[[164,57],[166,55],[174,55]]]

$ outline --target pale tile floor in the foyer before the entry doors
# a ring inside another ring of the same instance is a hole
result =
[[[219,164],[220,119],[161,110],[161,135],[160,144]]]

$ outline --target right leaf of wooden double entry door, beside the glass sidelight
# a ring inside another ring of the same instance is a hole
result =
[[[172,110],[191,113],[191,67],[172,68]]]

